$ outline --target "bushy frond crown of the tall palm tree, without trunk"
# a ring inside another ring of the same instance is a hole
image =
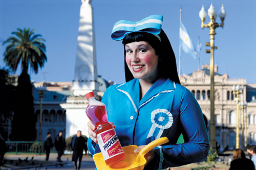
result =
[[[17,66],[21,62],[23,72],[28,73],[30,65],[30,68],[37,74],[38,65],[41,68],[47,61],[46,46],[42,43],[45,39],[40,38],[40,34],[34,35],[34,30],[25,28],[23,30],[18,28],[12,34],[16,37],[10,36],[3,42],[3,45],[8,43],[4,53],[4,61],[13,72],[17,70]]]

